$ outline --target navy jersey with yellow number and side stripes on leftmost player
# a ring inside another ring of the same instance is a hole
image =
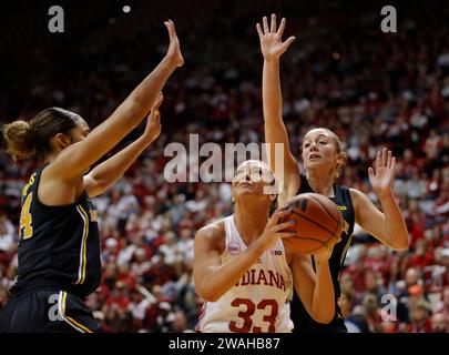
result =
[[[85,297],[101,281],[98,213],[85,191],[75,203],[42,204],[38,186],[43,169],[22,191],[18,281],[11,293],[54,285]]]

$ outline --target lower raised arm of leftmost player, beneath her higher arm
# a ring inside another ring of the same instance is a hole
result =
[[[106,191],[119,180],[136,158],[161,134],[161,113],[159,112],[159,108],[163,100],[164,97],[161,92],[151,109],[145,132],[135,142],[84,175],[84,190],[91,199]]]

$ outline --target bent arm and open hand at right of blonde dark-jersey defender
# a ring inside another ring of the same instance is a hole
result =
[[[351,189],[356,222],[385,245],[398,251],[408,248],[408,231],[402,213],[392,192],[396,158],[391,151],[377,153],[376,170],[368,169],[374,192],[379,196],[384,212],[360,191]]]

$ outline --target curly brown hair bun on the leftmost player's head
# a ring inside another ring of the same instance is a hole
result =
[[[13,160],[35,156],[35,132],[30,123],[18,120],[4,124],[2,133]]]

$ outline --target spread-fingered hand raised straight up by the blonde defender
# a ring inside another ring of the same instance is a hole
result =
[[[261,50],[265,60],[279,59],[296,39],[295,37],[289,37],[285,42],[282,41],[285,23],[286,20],[283,18],[279,28],[276,31],[276,16],[272,14],[272,23],[269,28],[266,17],[263,18],[264,29],[262,29],[259,23],[256,24],[258,38],[261,39]]]

